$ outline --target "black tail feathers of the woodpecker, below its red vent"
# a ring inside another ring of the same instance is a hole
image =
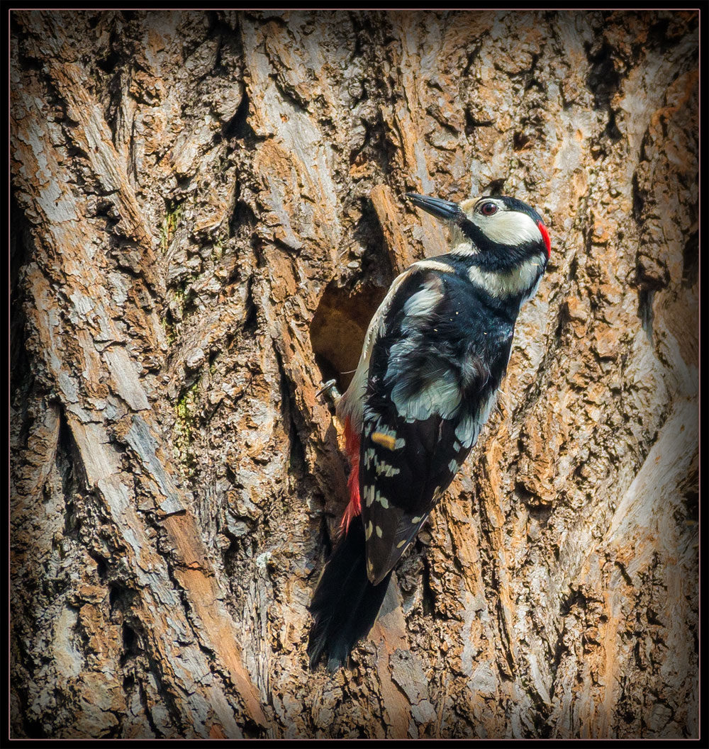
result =
[[[354,518],[347,535],[328,561],[310,602],[315,623],[310,629],[310,668],[328,655],[328,668],[344,666],[350,651],[374,625],[384,601],[391,572],[378,585],[366,576],[364,528],[361,516]]]

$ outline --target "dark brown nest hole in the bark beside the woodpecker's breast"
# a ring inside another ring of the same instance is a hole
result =
[[[310,323],[310,343],[322,372],[322,381],[337,380],[345,392],[360,359],[369,321],[384,299],[386,289],[361,286],[348,291],[331,282]]]

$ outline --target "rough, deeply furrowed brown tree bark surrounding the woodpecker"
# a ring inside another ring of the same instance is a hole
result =
[[[13,13],[13,736],[698,735],[698,18]],[[316,398],[406,190],[552,263],[474,453],[334,676]]]

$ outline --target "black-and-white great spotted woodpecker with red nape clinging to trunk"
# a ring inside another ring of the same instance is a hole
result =
[[[516,198],[406,196],[450,224],[451,247],[394,280],[337,404],[350,501],[310,604],[311,668],[325,653],[337,670],[372,628],[393,566],[487,420],[551,252],[539,214]]]

